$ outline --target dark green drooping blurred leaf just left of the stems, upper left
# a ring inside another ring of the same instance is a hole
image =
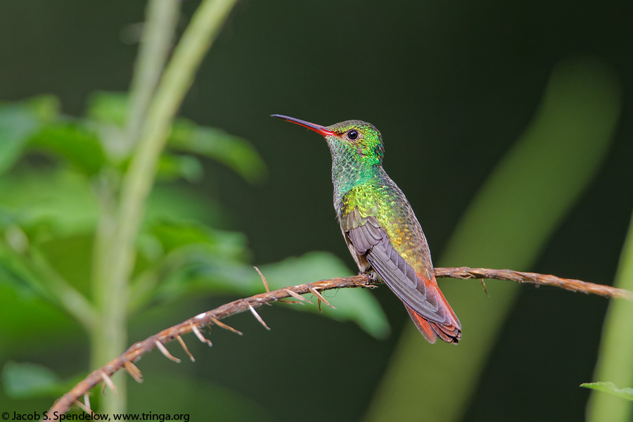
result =
[[[49,124],[32,136],[29,146],[68,160],[88,176],[101,170],[106,161],[98,136],[81,124]]]

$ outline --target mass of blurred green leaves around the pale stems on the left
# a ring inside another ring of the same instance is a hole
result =
[[[127,96],[106,92],[91,96],[87,117],[79,119],[60,113],[52,96],[0,106],[0,309],[11,314],[10,320],[3,319],[0,337],[6,345],[27,345],[32,339],[18,340],[18,333],[32,319],[55,326],[49,335],[59,336],[56,342],[70,334],[68,316],[75,324],[88,324],[94,283],[99,282],[94,279],[96,230],[104,213],[112,212],[134,153],[125,143],[126,113]],[[177,120],[158,162],[158,184],[136,241],[129,312],[194,294],[235,297],[264,291],[249,262],[245,234],[219,229],[224,212],[217,210],[222,207],[182,185],[202,179],[203,160],[209,159],[251,182],[266,172],[248,141]],[[348,274],[326,253],[262,269],[277,288]],[[341,295],[345,311],[328,315],[384,335],[388,326],[376,300],[366,291],[354,293]],[[316,306],[301,309],[318,312]],[[4,365],[2,382],[13,398],[54,397],[71,386],[44,366],[12,362]]]

